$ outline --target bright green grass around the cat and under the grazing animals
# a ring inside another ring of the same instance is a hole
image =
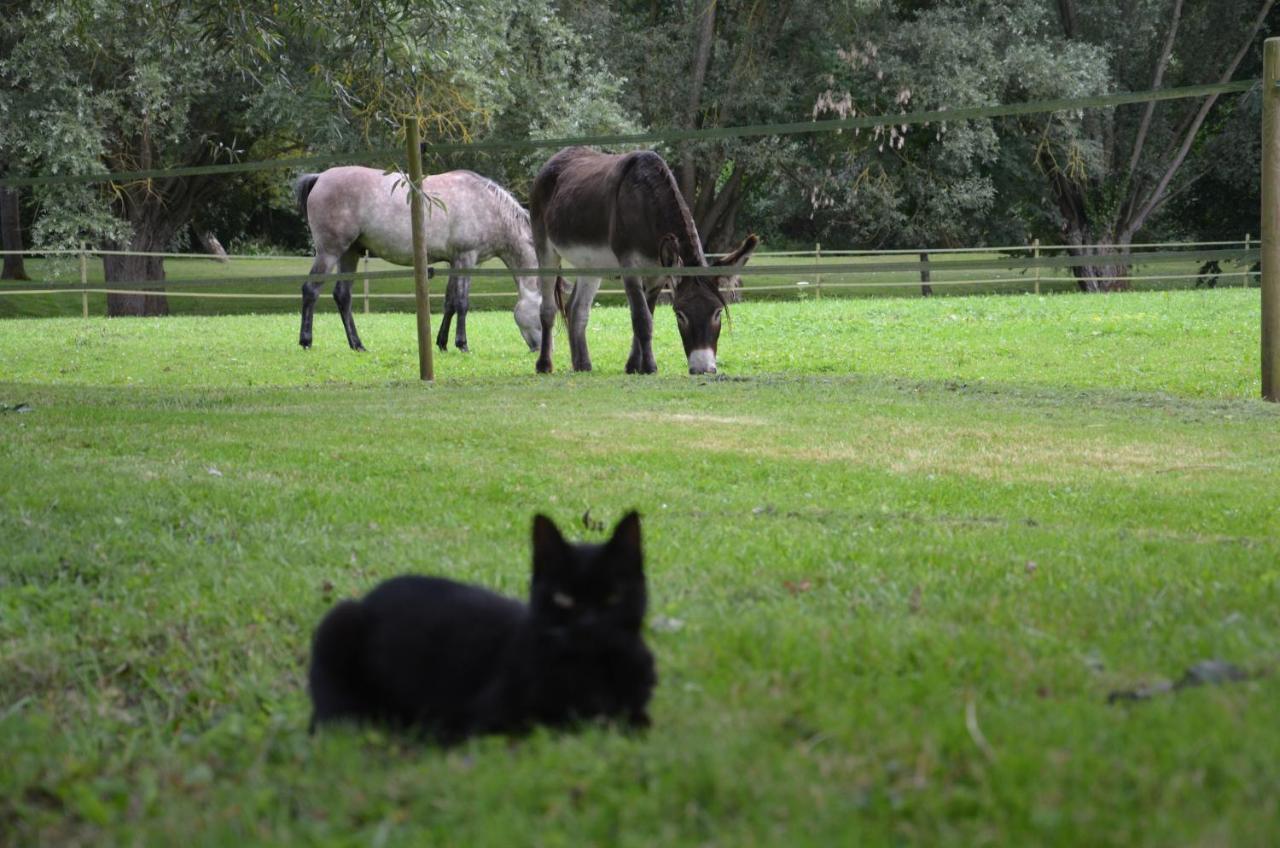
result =
[[[744,304],[722,377],[509,315],[416,373],[292,315],[0,323],[0,843],[1280,840],[1258,295]],[[26,405],[28,411],[17,411]],[[643,737],[305,731],[311,629],[644,515]],[[1251,679],[1108,705],[1220,658]]]

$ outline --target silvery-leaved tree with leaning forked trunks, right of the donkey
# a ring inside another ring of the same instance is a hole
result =
[[[844,46],[819,108],[892,114],[904,100],[947,109],[1228,79],[1261,45],[1271,6],[910,4]],[[1161,228],[1170,200],[1212,173],[1187,169],[1189,154],[1234,126],[1221,118],[1236,102],[1211,96],[888,128],[874,149],[836,158],[837,191],[819,200],[828,219],[842,216],[856,236],[882,243],[925,234],[943,243],[1064,240],[1071,254],[1096,257],[1075,269],[1082,289],[1124,288],[1128,245]]]

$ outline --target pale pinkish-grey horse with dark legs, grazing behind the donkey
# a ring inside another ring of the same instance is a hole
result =
[[[470,170],[433,174],[422,181],[422,191],[443,209],[431,204],[426,216],[429,261],[448,261],[449,284],[444,318],[435,343],[443,351],[449,341],[449,322],[458,316],[457,348],[467,350],[467,306],[471,291],[468,269],[497,256],[507,268],[532,268],[534,254],[529,213],[498,183]],[[413,264],[413,233],[410,224],[408,186],[398,174],[376,168],[330,168],[320,174],[303,174],[294,186],[298,210],[311,227],[316,246],[312,274],[337,270],[351,274],[367,250],[397,265]],[[311,318],[321,282],[302,284],[302,332],[298,343],[311,347]],[[342,313],[347,343],[362,351],[351,316],[351,278],[339,279],[333,298]],[[535,277],[516,278],[516,324],[529,350],[541,343],[540,295]]]

